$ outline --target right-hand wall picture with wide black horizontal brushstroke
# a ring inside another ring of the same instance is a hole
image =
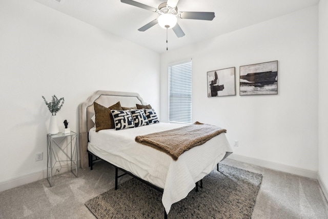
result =
[[[278,61],[240,66],[240,95],[277,94]]]

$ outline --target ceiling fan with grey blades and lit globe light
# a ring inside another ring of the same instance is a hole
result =
[[[182,31],[181,27],[177,24],[177,18],[181,19],[198,19],[205,21],[212,21],[215,17],[214,12],[190,12],[190,11],[178,11],[177,4],[179,0],[168,0],[162,3],[158,8],[153,8],[151,6],[138,3],[132,0],[121,0],[121,3],[132,5],[138,8],[143,8],[149,11],[153,11],[159,14],[157,19],[151,21],[145,26],[139,28],[139,31],[146,31],[156,24],[159,24],[164,29],[173,29],[177,37],[182,37],[185,33]]]

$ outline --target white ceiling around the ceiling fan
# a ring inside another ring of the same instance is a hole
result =
[[[35,0],[80,21],[129,39],[155,52],[166,51],[166,29],[155,25],[138,29],[158,17],[157,13],[121,3],[120,0]],[[60,3],[58,3],[60,1]],[[135,0],[157,8],[165,0]],[[185,36],[169,30],[169,50],[194,44],[250,25],[317,5],[319,0],[180,0],[178,11],[215,12],[213,21],[178,19]]]

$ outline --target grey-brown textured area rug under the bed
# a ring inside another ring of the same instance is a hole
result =
[[[172,205],[168,218],[251,218],[262,175],[220,164],[203,188]],[[162,193],[135,178],[85,205],[97,218],[163,218]]]

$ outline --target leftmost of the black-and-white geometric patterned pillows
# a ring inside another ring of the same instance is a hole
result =
[[[129,110],[111,110],[114,122],[115,130],[134,128],[133,118]]]

